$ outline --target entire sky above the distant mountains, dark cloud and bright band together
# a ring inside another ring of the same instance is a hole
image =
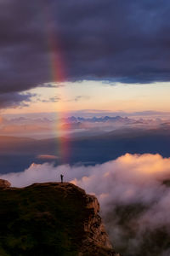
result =
[[[170,111],[169,1],[0,7],[0,113]]]

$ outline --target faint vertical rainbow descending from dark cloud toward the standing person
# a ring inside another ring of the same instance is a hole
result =
[[[45,32],[47,34],[48,52],[49,52],[49,69],[51,72],[52,81],[55,83],[62,83],[66,80],[65,76],[65,61],[63,55],[61,55],[61,48],[59,37],[56,36],[57,27],[55,26],[54,33],[54,21],[52,20],[52,11],[49,9],[48,3],[43,2],[43,16],[45,20]],[[59,104],[59,102],[57,102]],[[62,119],[65,119],[67,109],[63,109],[63,113],[56,113],[57,123],[55,125],[55,131],[62,131],[64,136],[59,137],[57,143],[57,156],[61,162],[65,163],[69,161],[69,138],[65,137],[66,130],[68,129],[62,124]]]

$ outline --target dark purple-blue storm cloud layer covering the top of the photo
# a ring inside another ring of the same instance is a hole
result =
[[[3,0],[0,93],[53,81],[54,58],[67,80],[169,81],[169,12],[167,0]]]

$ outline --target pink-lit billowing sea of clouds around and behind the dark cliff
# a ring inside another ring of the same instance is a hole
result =
[[[25,187],[31,183],[59,181],[61,173],[65,181],[98,197],[100,214],[113,246],[126,247],[126,255],[138,255],[146,232],[166,227],[170,233],[170,187],[164,183],[170,179],[170,158],[162,158],[160,154],[125,154],[96,166],[32,164],[24,172],[8,173],[0,178],[7,179],[14,187]],[[125,239],[127,225],[120,224],[116,211],[117,207],[130,205],[142,210],[127,219],[134,236]],[[160,255],[169,253],[167,249]]]

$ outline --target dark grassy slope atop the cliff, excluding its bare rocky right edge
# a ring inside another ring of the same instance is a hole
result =
[[[77,255],[89,214],[82,189],[59,183],[1,189],[0,204],[1,256]]]

